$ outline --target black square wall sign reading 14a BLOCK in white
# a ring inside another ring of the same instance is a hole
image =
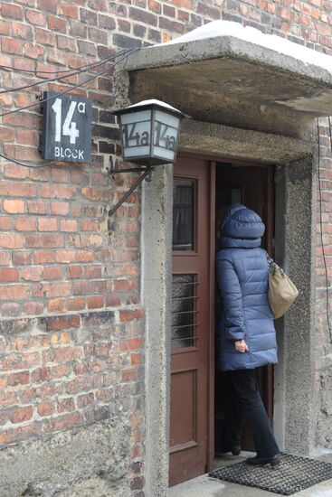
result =
[[[45,91],[43,99],[43,159],[90,163],[90,98]]]

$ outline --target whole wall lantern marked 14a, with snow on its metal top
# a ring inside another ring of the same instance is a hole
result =
[[[114,112],[119,116],[123,158],[131,163],[175,163],[184,114],[160,100],[144,100]]]

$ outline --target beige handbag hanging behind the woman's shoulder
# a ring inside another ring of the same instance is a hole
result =
[[[274,319],[285,314],[299,295],[298,288],[271,258],[269,262],[269,303]]]

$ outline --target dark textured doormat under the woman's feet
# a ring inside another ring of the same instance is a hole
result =
[[[281,495],[292,495],[332,478],[331,463],[283,453],[280,459],[276,466],[251,466],[245,461],[230,464],[214,470],[209,476]]]

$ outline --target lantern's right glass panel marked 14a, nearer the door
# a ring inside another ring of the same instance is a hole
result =
[[[179,117],[156,110],[152,155],[174,162],[179,125]]]

